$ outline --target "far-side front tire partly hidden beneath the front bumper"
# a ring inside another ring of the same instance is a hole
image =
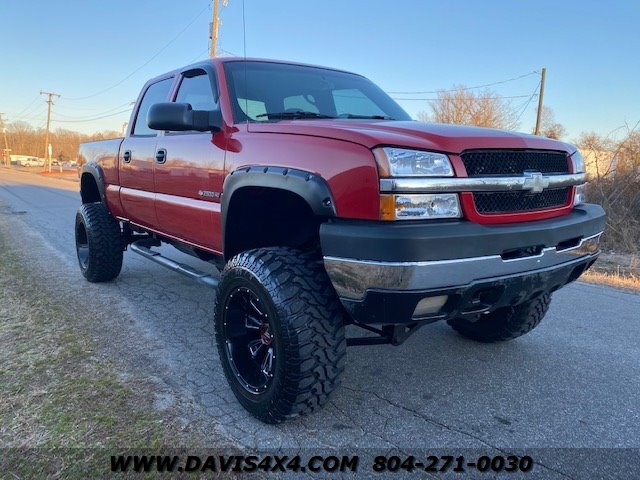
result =
[[[515,307],[499,308],[482,315],[477,322],[454,318],[448,323],[471,340],[501,342],[520,337],[536,328],[547,313],[550,303],[551,295],[544,294]]]

